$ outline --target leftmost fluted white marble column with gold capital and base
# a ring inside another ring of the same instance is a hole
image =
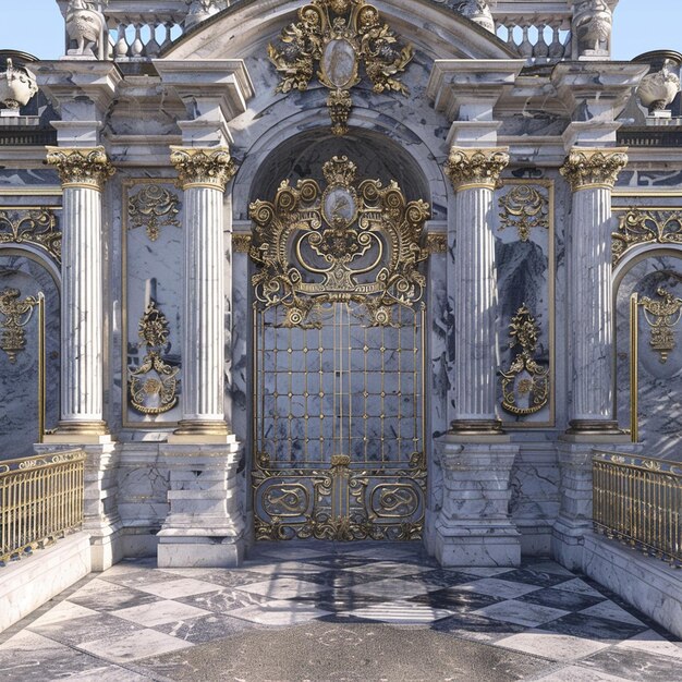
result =
[[[101,192],[113,174],[103,147],[48,147],[63,187],[61,421],[57,439],[100,442],[103,270]],[[54,439],[52,439],[54,440]]]

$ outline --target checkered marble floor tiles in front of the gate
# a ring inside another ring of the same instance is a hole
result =
[[[249,630],[314,620],[331,629],[427,628],[453,644],[547,661],[540,675],[523,679],[681,679],[679,641],[549,560],[515,570],[443,570],[416,546],[331,543],[264,544],[238,570],[123,561],[0,635],[0,679],[181,679],[157,674],[154,661]]]

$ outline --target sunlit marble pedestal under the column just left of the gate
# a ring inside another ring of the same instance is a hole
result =
[[[241,447],[167,446],[170,511],[158,534],[159,568],[229,568],[244,553]]]

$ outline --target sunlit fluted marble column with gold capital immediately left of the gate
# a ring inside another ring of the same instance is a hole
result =
[[[184,190],[182,421],[169,442],[227,442],[223,195],[226,147],[171,147]]]

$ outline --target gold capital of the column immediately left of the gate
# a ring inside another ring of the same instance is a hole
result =
[[[236,173],[227,147],[171,147],[171,163],[183,190],[209,187],[224,192]]]

